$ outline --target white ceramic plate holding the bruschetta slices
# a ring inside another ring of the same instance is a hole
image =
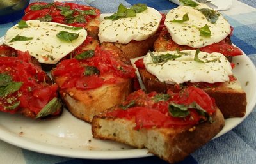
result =
[[[0,45],[4,38],[0,38]],[[234,57],[234,75],[246,92],[248,105],[243,118],[227,119],[216,137],[232,130],[252,112],[256,103],[256,70],[250,59]],[[215,138],[216,138],[215,137]],[[20,115],[0,113],[0,139],[39,153],[72,158],[118,159],[152,156],[147,149],[134,149],[116,142],[92,138],[90,124],[73,117],[67,110],[56,119],[31,120]]]

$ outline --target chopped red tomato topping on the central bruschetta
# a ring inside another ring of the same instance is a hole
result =
[[[87,72],[87,69],[94,72]],[[87,73],[86,73],[87,72]],[[94,89],[103,84],[113,84],[119,78],[134,78],[135,70],[111,51],[96,47],[93,56],[84,59],[65,59],[52,71],[55,77],[65,77],[61,88]]]

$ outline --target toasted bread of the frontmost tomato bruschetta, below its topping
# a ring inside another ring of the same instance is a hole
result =
[[[208,121],[194,127],[150,128],[135,130],[134,119],[93,117],[93,138],[115,140],[134,147],[146,147],[150,153],[169,163],[184,160],[186,156],[209,142],[225,125],[220,110]]]

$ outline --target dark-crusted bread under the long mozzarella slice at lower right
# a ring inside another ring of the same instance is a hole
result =
[[[159,93],[166,93],[168,89],[175,89],[172,84],[160,82],[154,75],[143,68],[138,68],[138,71],[148,92],[157,91]],[[220,108],[225,118],[243,117],[245,115],[247,104],[246,93],[237,80],[225,82],[218,86],[205,86],[201,89],[215,99],[217,107]]]

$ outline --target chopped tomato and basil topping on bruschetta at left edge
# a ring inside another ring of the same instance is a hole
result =
[[[17,57],[0,57],[0,74],[2,77],[10,77],[7,81],[10,86],[4,88],[7,94],[0,96],[0,111],[13,114],[20,108],[27,108],[36,116],[57,96],[58,86],[45,82],[46,73],[31,63],[28,52],[18,51],[17,55]],[[12,92],[15,88],[13,83],[21,84],[14,92]]]

